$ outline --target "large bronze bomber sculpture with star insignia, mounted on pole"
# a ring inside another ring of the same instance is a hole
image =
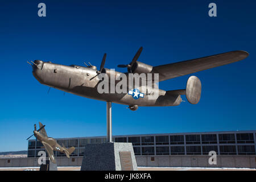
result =
[[[246,51],[231,51],[218,55],[201,57],[199,59],[153,67],[137,61],[141,52],[142,47],[139,48],[130,64],[118,65],[118,67],[127,68],[128,73],[125,73],[126,75],[129,73],[152,73],[152,75],[158,73],[159,82],[234,63],[245,59],[249,55]],[[151,93],[156,91],[156,88],[148,85],[147,88],[144,89],[146,90],[146,93],[143,93],[142,91],[143,86],[132,89],[127,86],[127,93],[98,93],[97,86],[101,82],[98,76],[100,73],[110,75],[110,69],[104,67],[105,60],[106,53],[102,59],[100,70],[97,70],[97,68],[91,64],[87,67],[81,67],[79,65],[67,66],[44,62],[42,60],[31,61],[31,65],[34,77],[41,84],[82,97],[127,105],[131,110],[137,110],[139,106],[177,106],[180,105],[182,101],[180,95],[185,95],[188,102],[191,104],[197,104],[200,101],[201,82],[196,76],[188,78],[186,89],[165,91],[157,88],[158,97],[154,99],[149,99],[149,97]],[[121,72],[114,72],[115,76],[119,74],[121,74]],[[114,82],[115,85],[117,83],[118,81]]]

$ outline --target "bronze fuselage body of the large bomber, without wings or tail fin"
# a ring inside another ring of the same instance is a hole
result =
[[[95,100],[109,101],[128,106],[177,106],[181,103],[180,95],[168,94],[166,91],[158,89],[159,94],[155,99],[148,99],[147,93],[143,93],[143,98],[135,100],[131,94],[127,93],[98,93],[97,86],[101,80],[98,78],[96,67],[81,67],[77,65],[61,65],[41,60],[34,61],[33,75],[41,83],[52,88],[63,90],[64,92],[76,94],[78,96],[92,98]],[[115,72],[119,73],[119,72]],[[115,85],[117,82],[114,83]],[[142,88],[138,88],[142,92]],[[148,88],[147,88],[148,89]],[[155,88],[150,92],[154,92]],[[128,91],[128,89],[127,89]]]

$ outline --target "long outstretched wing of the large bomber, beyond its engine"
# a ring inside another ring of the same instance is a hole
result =
[[[205,69],[220,67],[222,65],[234,63],[236,61],[241,61],[247,56],[249,56],[249,53],[246,51],[231,51],[218,55],[201,57],[199,59],[159,65],[157,67],[153,67],[152,73],[159,73],[159,81],[164,81],[171,78],[203,71]]]

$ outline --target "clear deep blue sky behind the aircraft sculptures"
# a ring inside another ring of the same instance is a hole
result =
[[[46,3],[46,17],[38,3]],[[217,4],[217,17],[208,5]],[[139,107],[113,104],[113,135],[255,130],[256,2],[243,1],[1,1],[0,151],[27,150],[34,123],[50,137],[106,135],[106,104],[41,85],[28,60],[117,68],[153,66],[242,49],[243,61],[194,73],[202,83],[197,105]],[[183,89],[188,77],[160,82]],[[185,97],[183,97],[185,100]]]

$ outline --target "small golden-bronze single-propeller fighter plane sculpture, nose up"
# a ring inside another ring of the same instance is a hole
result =
[[[61,147],[60,144],[57,143],[54,138],[47,136],[46,130],[44,129],[46,125],[42,125],[42,123],[39,122],[39,126],[40,126],[40,129],[36,130],[36,124],[34,125],[35,130],[33,135],[35,135],[36,139],[38,139],[46,148],[47,154],[51,162],[56,164],[56,159],[53,154],[53,150],[64,153],[67,156],[67,158],[70,158],[69,155],[72,154],[72,152],[75,150],[75,147],[65,148],[64,145]],[[33,135],[28,137],[27,140],[30,139]]]

